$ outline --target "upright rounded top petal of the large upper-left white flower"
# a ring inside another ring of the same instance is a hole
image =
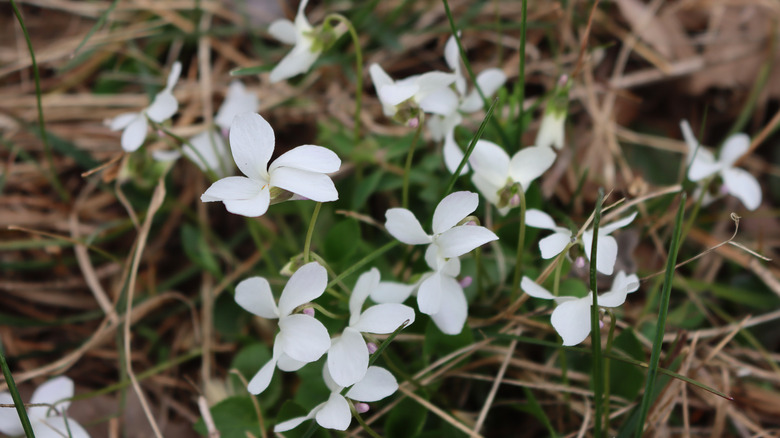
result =
[[[230,124],[230,149],[236,165],[251,179],[268,179],[268,161],[274,152],[274,130],[256,113],[237,114]]]

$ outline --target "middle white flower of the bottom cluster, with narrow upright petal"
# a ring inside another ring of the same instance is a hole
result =
[[[363,311],[366,298],[378,286],[379,270],[376,268],[358,278],[349,297],[349,326],[340,337],[333,339],[328,350],[328,369],[339,386],[353,385],[366,374],[369,351],[362,333],[392,333],[404,322],[414,322],[414,310],[403,304],[377,304]]]

